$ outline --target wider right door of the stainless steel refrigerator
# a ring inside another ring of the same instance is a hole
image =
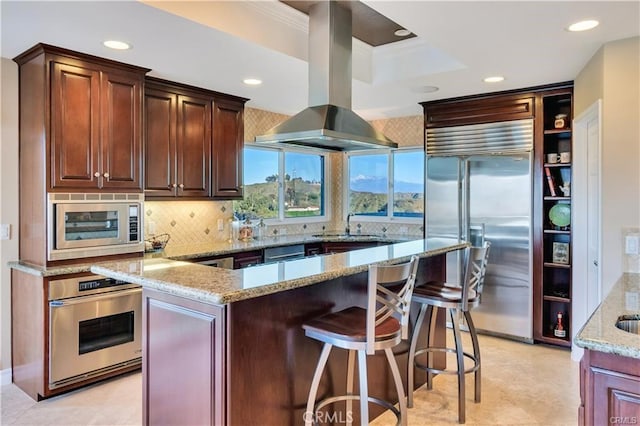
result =
[[[484,238],[491,242],[482,303],[473,311],[475,326],[530,340],[533,338],[530,155],[470,157],[467,162],[468,224],[482,224]]]

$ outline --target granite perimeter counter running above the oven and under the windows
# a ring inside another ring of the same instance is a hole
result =
[[[337,233],[327,232],[324,234],[292,234],[282,236],[269,236],[261,240],[251,241],[234,241],[234,242],[207,242],[196,244],[181,244],[181,245],[169,245],[164,250],[159,250],[150,253],[144,253],[144,259],[171,259],[171,260],[185,260],[194,261],[198,258],[213,257],[213,256],[225,256],[232,255],[234,253],[241,253],[243,251],[259,250],[268,247],[280,247],[293,244],[308,244],[308,243],[321,243],[321,242],[402,242],[421,240],[422,237],[415,235],[358,235],[353,234],[350,237],[339,237]],[[143,258],[135,258],[136,260],[142,260]],[[33,265],[22,261],[7,262],[7,266],[11,269],[17,269],[22,272],[26,272],[31,275],[40,277],[55,277],[58,275],[76,274],[91,272],[91,266],[95,262],[82,262],[73,263],[63,266],[40,266]]]

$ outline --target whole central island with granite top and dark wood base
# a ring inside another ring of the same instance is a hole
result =
[[[321,350],[302,323],[364,305],[370,264],[417,254],[421,284],[444,279],[446,253],[466,246],[425,239],[242,270],[132,259],[91,271],[143,286],[144,424],[293,425]],[[330,358],[321,395],[344,391],[342,355]],[[398,351],[403,375],[406,358]],[[369,361],[370,392],[394,400],[386,365],[384,356]]]

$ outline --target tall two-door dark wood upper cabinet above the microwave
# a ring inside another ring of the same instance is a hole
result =
[[[47,59],[49,189],[140,191],[146,70],[118,69],[91,58],[51,55]],[[46,102],[46,93],[37,96]]]

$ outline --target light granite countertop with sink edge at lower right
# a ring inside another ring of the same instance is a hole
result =
[[[640,335],[618,329],[621,315],[640,315],[640,274],[623,274],[575,338],[581,348],[640,358]]]

